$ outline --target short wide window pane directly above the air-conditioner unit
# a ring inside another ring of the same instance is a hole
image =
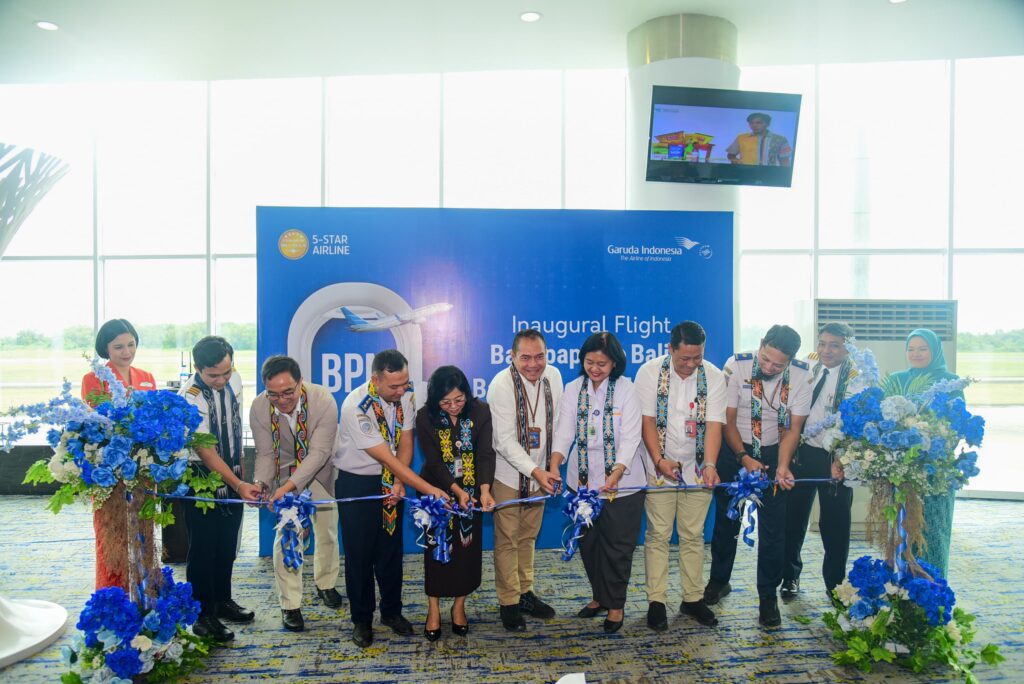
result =
[[[874,254],[818,258],[821,299],[945,299],[941,254]]]

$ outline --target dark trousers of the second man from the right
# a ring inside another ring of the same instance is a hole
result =
[[[750,444],[743,444],[748,454],[753,452]],[[778,444],[761,446],[761,463],[768,467],[768,477],[775,478],[778,467]],[[723,482],[735,479],[739,464],[732,452],[723,447],[718,460],[718,473]],[[782,584],[782,558],[785,551],[785,506],[784,489],[769,487],[762,497],[758,508],[758,595],[762,598],[775,596]],[[711,542],[711,580],[724,585],[732,576],[732,566],[736,559],[736,543],[742,520],[728,517],[729,496],[723,487],[715,489],[715,531]]]

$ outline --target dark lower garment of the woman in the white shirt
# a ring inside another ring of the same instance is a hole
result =
[[[626,606],[645,494],[605,500],[594,526],[580,540],[580,556],[594,600],[605,608],[617,610]]]

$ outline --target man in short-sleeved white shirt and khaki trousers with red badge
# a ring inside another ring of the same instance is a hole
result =
[[[647,575],[647,627],[669,629],[666,613],[669,541],[679,531],[682,613],[701,625],[718,624],[703,601],[703,525],[712,489],[719,482],[718,455],[725,425],[725,376],[705,360],[707,335],[699,324],[686,320],[672,330],[669,353],[644,364],[636,375],[643,413],[643,442],[650,455],[649,484],[683,483],[703,489],[649,491],[644,566]]]

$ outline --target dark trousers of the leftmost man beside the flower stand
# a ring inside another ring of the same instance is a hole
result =
[[[228,496],[238,497],[231,489]],[[204,513],[196,504],[187,502],[184,507],[188,521],[185,576],[193,586],[193,596],[203,606],[203,613],[214,614],[217,603],[231,598],[231,569],[244,507],[222,504]]]

